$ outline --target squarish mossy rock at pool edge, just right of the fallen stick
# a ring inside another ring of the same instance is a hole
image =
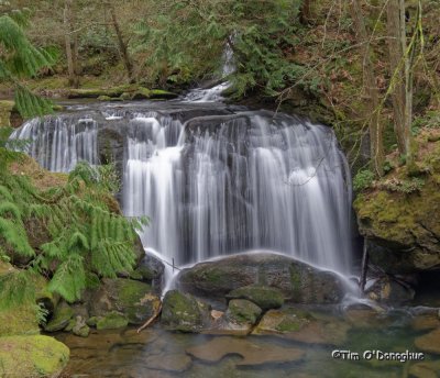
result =
[[[210,309],[190,294],[170,290],[165,294],[161,323],[168,330],[199,332]]]

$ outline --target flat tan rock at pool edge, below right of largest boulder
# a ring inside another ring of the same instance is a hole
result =
[[[279,335],[307,344],[343,345],[349,325],[337,319],[317,319],[297,309],[270,310],[253,335]]]

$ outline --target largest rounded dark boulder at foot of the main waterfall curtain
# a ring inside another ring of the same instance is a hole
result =
[[[290,303],[337,303],[344,294],[338,275],[266,252],[197,264],[179,273],[177,286],[184,292],[223,305],[231,291],[249,286],[277,289]],[[248,294],[252,291],[245,290]],[[279,303],[280,297],[277,298]]]

